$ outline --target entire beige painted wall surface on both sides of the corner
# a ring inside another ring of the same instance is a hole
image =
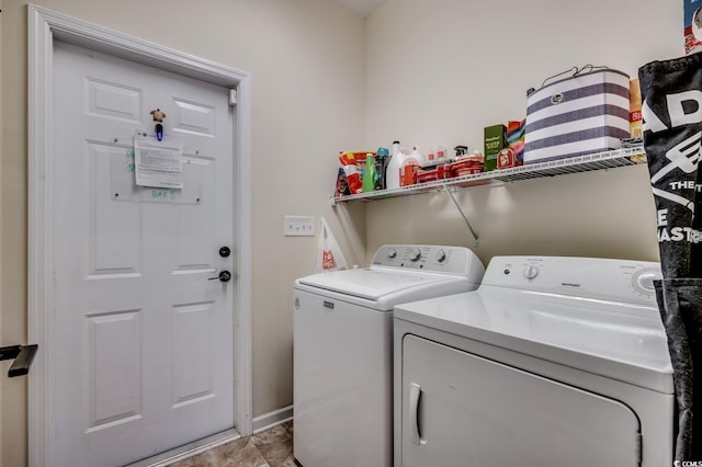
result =
[[[251,73],[254,415],[292,403],[292,282],[312,271],[317,247],[284,238],[284,214],[325,215],[352,263],[384,242],[473,244],[445,195],[332,212],[337,151],[396,138],[477,147],[484,126],[523,117],[525,90],[552,73],[592,62],[635,75],[682,54],[679,1],[389,0],[365,22],[327,0],[36,3]],[[26,1],[2,1],[0,21],[5,345],[26,338]],[[458,198],[484,261],[519,252],[657,258],[643,167],[463,190]],[[0,377],[7,467],[26,463],[25,381]]]

